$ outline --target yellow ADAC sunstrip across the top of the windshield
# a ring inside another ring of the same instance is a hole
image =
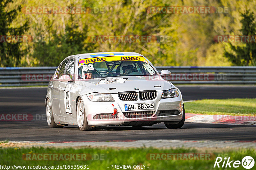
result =
[[[101,61],[143,61],[148,63],[148,61],[142,57],[142,56],[104,56],[104,57],[93,57],[93,58],[87,58],[87,59],[80,59],[79,60],[79,67],[84,64],[90,64],[95,62],[101,62]]]

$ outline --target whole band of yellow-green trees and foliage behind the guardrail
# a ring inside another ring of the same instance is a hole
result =
[[[241,32],[243,35],[250,33],[255,35],[254,14],[249,12],[241,15],[241,11],[253,11],[256,6],[255,1],[84,0],[70,3],[68,0],[16,0],[15,2],[2,0],[2,2],[0,35],[22,34],[44,39],[28,43],[0,43],[1,66],[57,66],[68,55],[104,51],[141,53],[156,66],[230,66],[256,63],[255,43],[237,43],[233,46],[233,44],[214,42],[216,35],[239,35]],[[72,15],[27,14],[20,11],[26,6],[88,7],[92,11]],[[148,7],[152,6],[214,6],[217,11],[210,14],[148,13]],[[219,13],[219,7],[228,7],[228,12]],[[29,22],[26,22],[27,20]],[[22,29],[22,26],[24,26],[22,32],[13,29]],[[29,28],[25,29],[25,27]],[[149,35],[157,36],[158,41],[92,43],[90,37],[97,35]]]

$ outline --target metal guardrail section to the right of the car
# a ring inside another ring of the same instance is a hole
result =
[[[163,69],[171,71],[172,75],[167,80],[174,84],[256,84],[254,66],[164,66],[156,69],[158,72]]]

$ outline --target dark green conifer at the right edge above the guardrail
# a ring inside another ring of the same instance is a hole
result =
[[[254,36],[256,33],[255,16],[253,12],[245,10],[241,13],[242,32],[243,36]],[[226,48],[224,56],[227,57],[233,65],[236,66],[256,66],[256,43],[245,42],[243,46],[234,46],[229,42],[229,47],[233,53],[229,53]]]

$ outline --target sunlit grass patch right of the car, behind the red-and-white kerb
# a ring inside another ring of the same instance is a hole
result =
[[[255,99],[204,99],[184,103],[186,113],[256,116]]]

